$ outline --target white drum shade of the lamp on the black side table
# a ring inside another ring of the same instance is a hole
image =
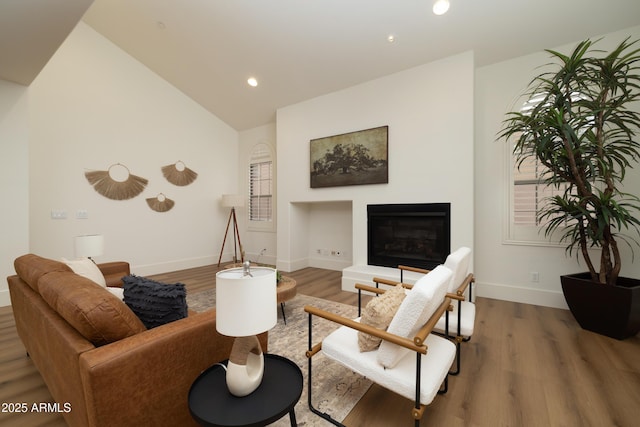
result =
[[[216,329],[223,335],[246,337],[273,328],[278,321],[276,270],[253,267],[216,274]]]

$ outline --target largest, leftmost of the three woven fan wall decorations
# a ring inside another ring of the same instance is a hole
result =
[[[127,200],[142,193],[149,181],[133,175],[121,163],[109,166],[106,171],[87,171],[84,176],[93,189],[112,200]]]

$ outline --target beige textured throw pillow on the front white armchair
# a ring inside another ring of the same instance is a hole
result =
[[[364,310],[362,310],[360,323],[386,331],[404,297],[404,287],[397,285],[388,289],[384,294],[371,298],[371,301],[369,301],[364,307]],[[360,351],[373,351],[380,346],[381,341],[382,338],[374,337],[364,332],[358,332],[358,346],[360,347]]]

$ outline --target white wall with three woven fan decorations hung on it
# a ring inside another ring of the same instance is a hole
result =
[[[29,88],[29,113],[30,251],[73,257],[74,236],[101,233],[96,260],[127,260],[137,274],[217,262],[228,215],[219,198],[238,190],[234,129],[82,22]],[[164,179],[160,168],[178,160],[199,174],[193,184]],[[84,177],[115,163],[149,180],[141,195],[107,199]],[[147,206],[159,193],[172,210]],[[75,218],[81,209],[88,219]]]

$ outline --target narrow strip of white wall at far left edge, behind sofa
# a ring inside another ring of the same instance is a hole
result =
[[[27,88],[0,80],[0,306],[10,304],[13,260],[29,248],[28,117]]]

